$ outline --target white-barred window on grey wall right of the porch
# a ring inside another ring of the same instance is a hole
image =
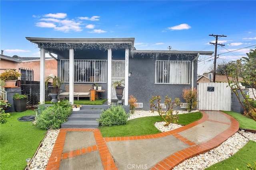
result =
[[[189,84],[190,61],[156,61],[156,84]]]

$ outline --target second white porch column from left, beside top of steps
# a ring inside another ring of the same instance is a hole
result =
[[[74,104],[74,49],[69,49],[69,102]]]

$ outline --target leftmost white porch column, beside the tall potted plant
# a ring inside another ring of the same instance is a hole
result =
[[[45,102],[45,49],[40,48],[40,103]]]

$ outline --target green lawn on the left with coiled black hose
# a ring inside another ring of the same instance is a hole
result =
[[[31,121],[18,121],[18,117],[34,115],[33,110],[10,114],[8,122],[0,125],[0,169],[22,170],[26,159],[34,156],[46,131],[33,126]]]

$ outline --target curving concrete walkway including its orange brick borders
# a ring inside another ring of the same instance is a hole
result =
[[[178,129],[132,137],[103,138],[99,129],[60,129],[46,170],[170,170],[218,147],[239,129],[221,111]]]

